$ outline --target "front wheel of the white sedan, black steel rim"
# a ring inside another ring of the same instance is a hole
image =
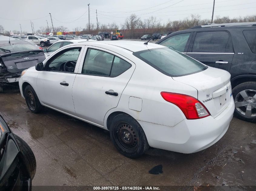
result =
[[[39,113],[43,106],[41,105],[35,90],[32,88],[31,85],[27,85],[24,91],[24,97],[28,106],[28,109],[32,113]]]

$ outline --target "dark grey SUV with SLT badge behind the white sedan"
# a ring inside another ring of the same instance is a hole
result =
[[[234,115],[256,122],[256,22],[195,26],[157,44],[230,72]]]

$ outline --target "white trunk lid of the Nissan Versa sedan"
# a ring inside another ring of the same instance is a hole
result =
[[[228,106],[231,100],[230,76],[230,73],[225,70],[208,67],[202,72],[172,78],[196,88],[198,91],[197,99],[215,118]]]

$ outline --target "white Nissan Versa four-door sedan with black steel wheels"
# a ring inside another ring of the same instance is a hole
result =
[[[19,87],[33,113],[45,106],[108,129],[130,158],[149,146],[208,148],[234,112],[228,72],[153,43],[70,44],[23,71]]]

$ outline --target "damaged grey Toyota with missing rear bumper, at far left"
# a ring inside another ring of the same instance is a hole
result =
[[[10,37],[0,38],[0,93],[5,85],[18,82],[23,70],[44,60],[43,50],[32,44]]]

